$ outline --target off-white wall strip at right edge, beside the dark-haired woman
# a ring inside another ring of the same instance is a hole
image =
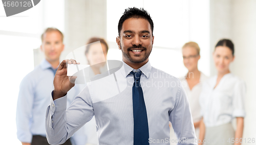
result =
[[[235,61],[231,71],[245,80],[247,85],[244,137],[256,137],[256,1],[232,1],[231,39],[235,45]],[[247,143],[253,144],[253,143]]]

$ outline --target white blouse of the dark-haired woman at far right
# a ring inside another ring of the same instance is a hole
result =
[[[203,83],[200,96],[201,113],[206,127],[230,123],[245,117],[245,82],[232,73],[225,74],[216,86],[217,75]]]

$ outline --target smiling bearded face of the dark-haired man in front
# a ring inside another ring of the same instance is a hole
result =
[[[122,59],[125,63],[147,62],[153,43],[151,25],[146,19],[129,18],[123,22],[117,44],[122,50]]]

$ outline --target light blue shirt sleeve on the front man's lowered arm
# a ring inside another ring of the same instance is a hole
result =
[[[188,99],[182,85],[179,85],[179,87],[175,107],[170,112],[170,122],[177,138],[180,140],[178,144],[197,144]]]

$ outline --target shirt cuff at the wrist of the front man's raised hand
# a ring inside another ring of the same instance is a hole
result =
[[[51,106],[50,108],[51,108],[52,112],[66,110],[67,109],[67,94],[65,96],[53,101],[53,91],[52,91],[50,106]]]

